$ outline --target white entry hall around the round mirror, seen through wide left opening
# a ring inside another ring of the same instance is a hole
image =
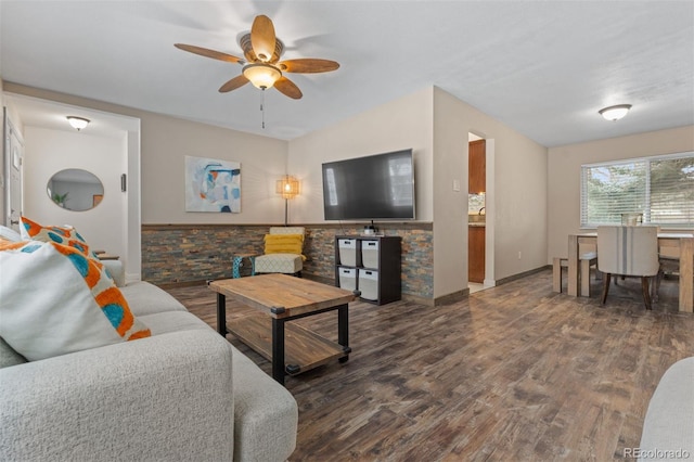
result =
[[[95,248],[120,257],[127,282],[140,280],[140,119],[24,94],[3,95],[12,121],[23,127],[18,132],[25,142],[21,211],[39,222],[75,226]],[[70,114],[89,118],[89,127],[77,132],[66,121]],[[7,164],[8,161],[5,169]],[[104,194],[99,206],[72,211],[56,206],[47,195],[46,185],[52,176],[73,167],[100,178]],[[8,180],[5,196],[9,188]],[[9,202],[8,198],[5,220]]]

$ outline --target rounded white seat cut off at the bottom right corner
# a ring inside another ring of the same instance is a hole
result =
[[[643,423],[639,461],[672,461],[694,458],[694,357],[665,371]]]

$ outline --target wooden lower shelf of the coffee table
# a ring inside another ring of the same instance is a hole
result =
[[[287,322],[285,329],[284,370],[290,375],[339,359],[347,360],[350,349],[331,342],[298,324]],[[272,360],[272,319],[248,315],[227,322],[227,330],[264,358]]]

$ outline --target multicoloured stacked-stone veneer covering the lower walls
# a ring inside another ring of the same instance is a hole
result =
[[[335,281],[335,236],[357,235],[363,226],[296,224],[306,228],[304,273]],[[231,278],[234,254],[262,254],[270,224],[144,224],[142,279],[158,285]],[[402,238],[402,294],[434,297],[432,223],[378,223],[386,235]],[[247,273],[248,267],[244,268]]]

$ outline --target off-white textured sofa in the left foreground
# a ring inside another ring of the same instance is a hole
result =
[[[151,337],[33,362],[0,339],[0,460],[286,460],[292,395],[168,293],[120,290]]]

